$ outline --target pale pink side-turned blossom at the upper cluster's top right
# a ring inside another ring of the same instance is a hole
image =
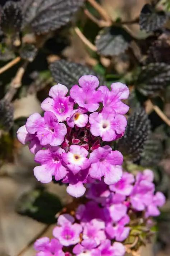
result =
[[[126,85],[117,82],[111,85],[111,91],[107,86],[100,86],[99,91],[103,93],[103,106],[115,111],[117,114],[126,114],[129,107],[121,100],[127,99],[129,96],[129,89]]]

